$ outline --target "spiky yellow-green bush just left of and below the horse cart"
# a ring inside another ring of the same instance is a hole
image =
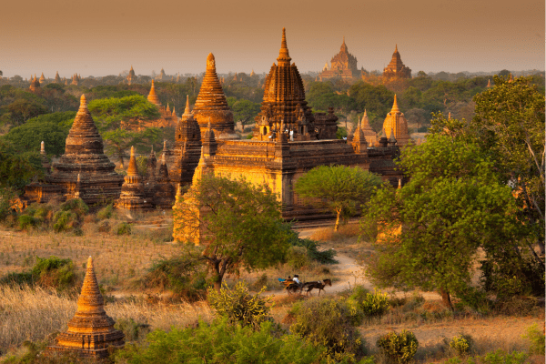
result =
[[[208,288],[207,298],[217,315],[227,318],[230,323],[259,329],[260,324],[269,319],[267,304],[271,301],[271,298],[260,298],[262,292],[263,289],[252,296],[248,294],[248,287],[243,281],[238,281],[233,289],[227,288],[224,282],[219,292]]]

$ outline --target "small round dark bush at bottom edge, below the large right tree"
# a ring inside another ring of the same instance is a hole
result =
[[[402,330],[399,334],[392,331],[383,335],[378,339],[377,345],[389,362],[403,364],[413,359],[419,348],[419,341],[413,332]]]

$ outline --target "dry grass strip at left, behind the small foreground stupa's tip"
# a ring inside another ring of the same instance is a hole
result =
[[[52,231],[7,231],[0,227],[0,277],[31,268],[36,256],[70,258],[83,274],[86,259],[93,256],[99,283],[123,286],[131,278],[143,275],[153,261],[179,252],[176,244],[157,242],[149,233],[136,231],[130,236],[99,233],[94,223],[85,224],[84,230],[86,235],[75,237]]]

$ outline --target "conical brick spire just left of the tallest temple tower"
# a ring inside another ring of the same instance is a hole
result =
[[[212,53],[207,56],[207,71],[193,109],[197,123],[202,130],[210,121],[218,139],[237,139],[233,113],[227,106],[224,90],[216,72],[216,60]]]

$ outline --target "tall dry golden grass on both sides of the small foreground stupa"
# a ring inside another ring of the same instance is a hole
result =
[[[205,302],[190,305],[151,304],[132,299],[106,304],[106,313],[116,321],[133,319],[150,329],[184,327],[201,318],[211,319]],[[76,312],[76,298],[58,296],[42,288],[0,287],[0,353],[15,349],[25,340],[44,340],[50,334],[66,330]]]

